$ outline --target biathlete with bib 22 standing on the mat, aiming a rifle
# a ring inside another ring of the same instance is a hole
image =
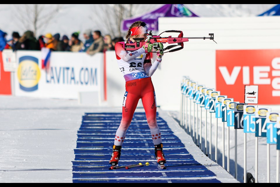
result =
[[[147,34],[148,28],[145,22],[136,21],[127,31],[126,43],[135,43],[137,38],[142,39],[141,42],[144,43],[147,39]],[[161,43],[160,45],[162,46]],[[162,134],[156,121],[157,105],[155,89],[151,80],[151,76],[162,61],[163,53],[157,50],[157,58],[155,62],[151,63],[150,52],[152,52],[152,50],[153,44],[149,42],[144,43],[143,47],[135,51],[126,51],[121,42],[115,44],[116,58],[120,72],[125,78],[126,90],[122,103],[122,120],[115,133],[113,153],[109,161],[112,166],[118,164],[126,131],[132,121],[134,111],[140,98],[146,113],[151,138],[155,145],[157,163],[164,164],[166,162],[162,152]]]

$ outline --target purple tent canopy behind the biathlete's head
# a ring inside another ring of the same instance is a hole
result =
[[[158,31],[159,17],[198,17],[192,13],[183,4],[165,4],[164,6],[150,12],[145,13],[137,18],[130,18],[122,21],[121,30],[127,32],[129,27],[135,21],[143,21],[147,24],[148,30]]]

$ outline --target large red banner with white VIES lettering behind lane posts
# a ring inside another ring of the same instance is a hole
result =
[[[245,85],[258,85],[258,104],[280,104],[280,49],[216,50],[216,90],[244,103]]]

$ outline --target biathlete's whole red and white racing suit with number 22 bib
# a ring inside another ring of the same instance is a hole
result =
[[[114,145],[122,146],[140,98],[146,113],[153,143],[158,145],[162,143],[162,138],[156,121],[157,105],[151,76],[161,62],[161,58],[157,58],[152,64],[150,53],[145,53],[144,48],[136,51],[126,51],[122,43],[116,43],[115,53],[118,66],[126,81],[126,91],[122,104],[122,120],[115,134]]]

